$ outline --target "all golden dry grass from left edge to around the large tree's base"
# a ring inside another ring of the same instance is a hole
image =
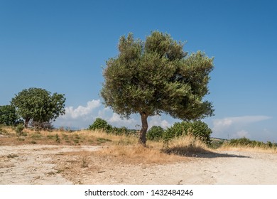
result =
[[[104,149],[95,152],[97,156],[110,156],[116,161],[126,163],[168,163],[179,161],[181,156],[202,153],[207,150],[205,144],[192,136],[185,136],[165,144],[160,141],[148,141],[147,147],[138,144],[136,136],[117,136],[104,131],[34,131],[24,129],[25,136],[17,136],[9,131],[9,136],[0,139],[0,145],[17,144],[54,144],[54,145],[101,145]],[[83,154],[79,154],[84,158]]]

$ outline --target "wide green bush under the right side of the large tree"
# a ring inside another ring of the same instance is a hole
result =
[[[210,135],[212,130],[200,120],[193,122],[176,122],[172,127],[165,130],[163,134],[163,139],[168,141],[178,136],[183,136],[186,134],[191,134],[196,138],[203,141],[205,144],[210,144]]]

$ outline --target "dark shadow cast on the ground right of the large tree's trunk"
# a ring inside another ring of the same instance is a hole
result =
[[[219,154],[216,152],[202,149],[199,146],[175,146],[168,149],[162,149],[165,154],[174,154],[177,156],[186,156],[194,158],[251,158],[250,156],[239,156],[234,154]]]

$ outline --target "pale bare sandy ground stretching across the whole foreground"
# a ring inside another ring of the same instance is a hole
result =
[[[0,184],[277,184],[277,154],[216,151],[145,165],[94,156],[97,146],[0,146]]]

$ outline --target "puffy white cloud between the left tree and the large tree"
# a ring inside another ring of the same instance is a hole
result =
[[[72,118],[77,119],[79,117],[84,117],[92,113],[92,111],[100,107],[101,102],[99,99],[95,100],[92,99],[92,101],[87,102],[87,106],[79,106],[76,109],[74,107],[65,107],[65,118]]]

